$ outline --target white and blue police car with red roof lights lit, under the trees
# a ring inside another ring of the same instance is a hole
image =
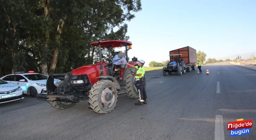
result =
[[[23,93],[36,97],[37,93],[46,94],[47,76],[35,71],[19,71],[14,74],[3,76],[2,80],[18,85],[23,89]],[[54,79],[54,83],[61,81]]]

